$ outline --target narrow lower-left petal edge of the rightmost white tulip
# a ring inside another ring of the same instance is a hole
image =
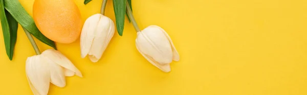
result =
[[[136,44],[136,45],[137,45],[137,50],[138,50],[138,51],[142,54],[142,56],[145,57],[145,59],[146,59],[147,61],[149,61],[152,65],[158,67],[158,68],[161,69],[163,72],[166,72],[166,73],[170,72],[170,65],[169,65],[169,64],[161,64],[161,63],[155,61],[152,57],[150,57],[150,56],[148,56],[148,55],[142,53],[142,52],[139,50],[138,44]]]

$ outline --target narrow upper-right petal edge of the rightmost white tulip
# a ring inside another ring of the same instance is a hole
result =
[[[157,28],[159,28],[160,30],[163,31],[164,35],[168,38],[168,40],[169,40],[169,42],[170,42],[170,44],[171,44],[172,52],[173,52],[173,60],[174,60],[174,61],[179,61],[179,59],[180,59],[179,53],[177,52],[175,45],[173,44],[172,40],[170,39],[169,35],[165,32],[165,30],[162,29],[162,28],[159,27],[159,26],[154,26],[154,25],[149,26],[149,27],[157,27]]]

